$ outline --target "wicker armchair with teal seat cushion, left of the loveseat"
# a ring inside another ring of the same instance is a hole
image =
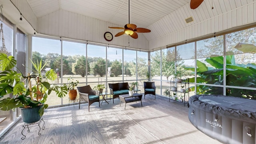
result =
[[[79,92],[79,109],[80,109],[80,102],[85,101],[88,102],[88,110],[90,112],[90,105],[94,102],[99,102],[100,106],[100,92],[96,90],[92,90],[90,85],[88,86],[81,86],[77,87]]]

